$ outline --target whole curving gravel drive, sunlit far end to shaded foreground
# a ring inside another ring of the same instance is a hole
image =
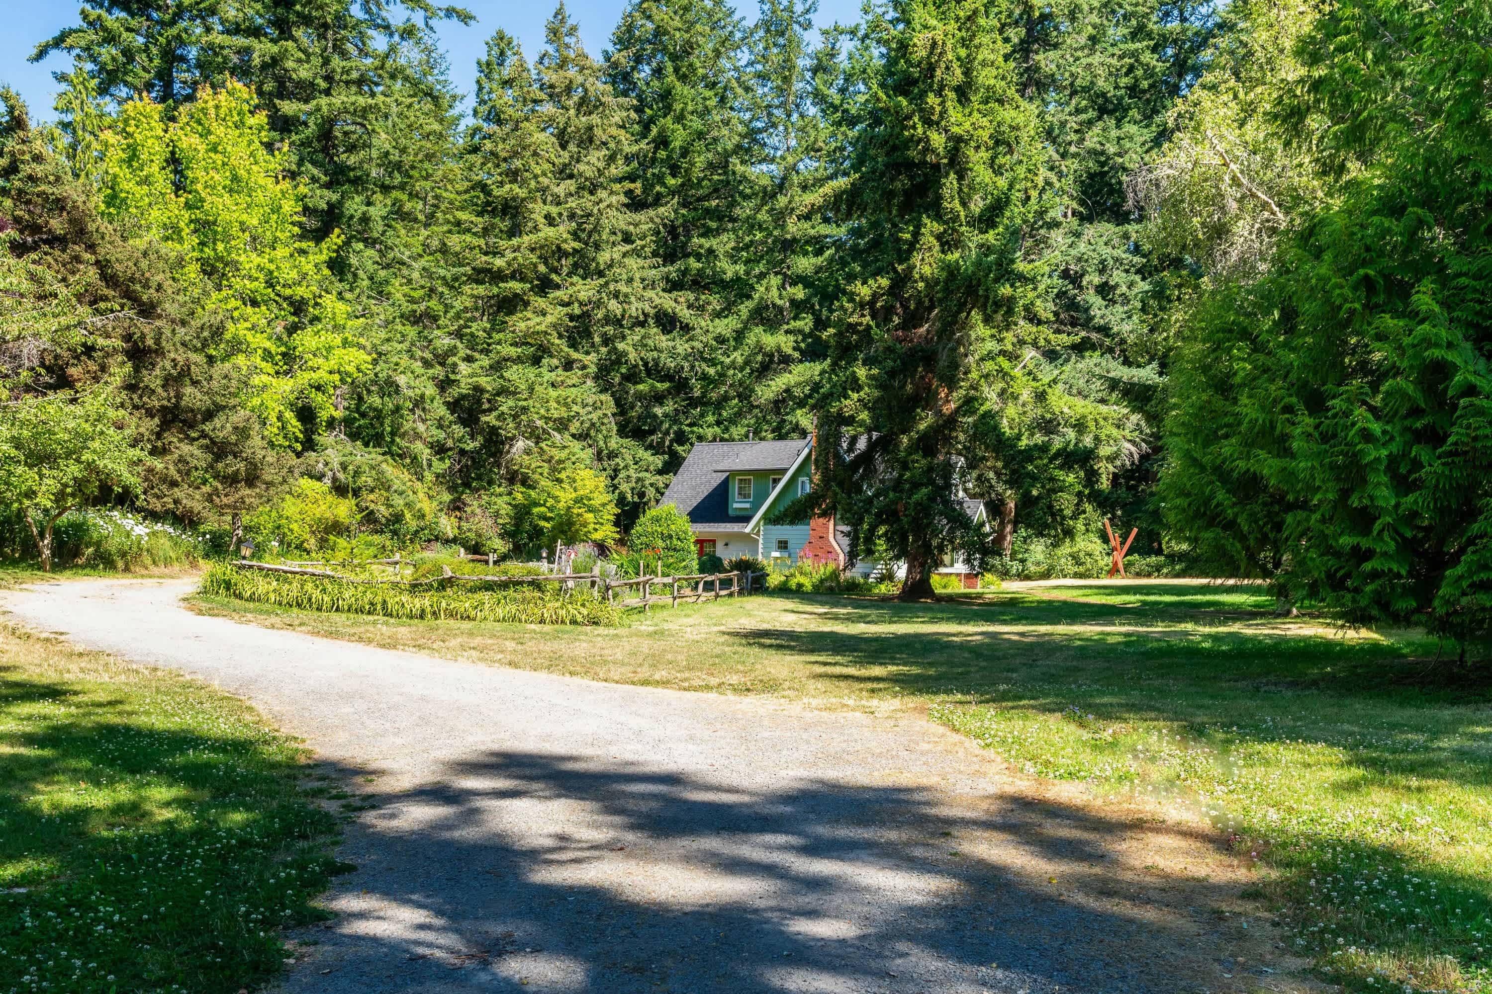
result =
[[[367,794],[283,991],[1295,990],[1201,833],[931,723],[266,630],[186,611],[191,587],[4,607],[242,694]]]

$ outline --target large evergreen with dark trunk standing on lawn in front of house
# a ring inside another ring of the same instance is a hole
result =
[[[850,82],[847,252],[856,282],[818,398],[821,487],[859,547],[907,563],[931,596],[944,553],[982,539],[958,462],[998,431],[1015,367],[1041,340],[1026,244],[1046,189],[1040,131],[1016,91],[1000,7],[895,0],[865,25]]]

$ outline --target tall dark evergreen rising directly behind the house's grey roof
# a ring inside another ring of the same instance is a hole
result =
[[[634,0],[612,34],[606,79],[633,109],[631,203],[656,222],[665,288],[676,306],[658,329],[680,358],[659,402],[665,459],[694,441],[746,434],[756,365],[737,304],[750,274],[740,241],[749,212],[743,115],[745,28],[724,0]]]

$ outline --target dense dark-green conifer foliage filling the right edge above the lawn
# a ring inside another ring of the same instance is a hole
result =
[[[1325,122],[1314,152],[1340,179],[1262,279],[1198,310],[1165,481],[1200,551],[1352,623],[1462,641],[1492,633],[1492,61],[1474,22],[1376,0],[1316,18],[1280,116]]]

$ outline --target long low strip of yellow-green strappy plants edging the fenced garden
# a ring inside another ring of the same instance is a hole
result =
[[[431,580],[419,586],[300,577],[216,565],[201,593],[301,611],[373,614],[418,621],[516,621],[524,624],[615,624],[618,608],[560,584],[486,586],[468,580]]]

